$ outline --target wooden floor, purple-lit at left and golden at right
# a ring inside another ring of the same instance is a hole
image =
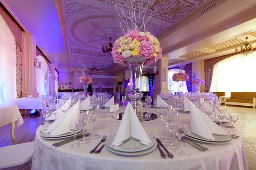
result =
[[[227,106],[227,111],[239,114],[235,127],[239,128],[242,133],[249,170],[256,170],[256,108]],[[25,114],[24,123],[18,128],[15,127],[15,141],[12,141],[10,136],[10,124],[0,127],[0,147],[34,141],[36,129],[43,119],[42,116],[30,118],[29,114]]]

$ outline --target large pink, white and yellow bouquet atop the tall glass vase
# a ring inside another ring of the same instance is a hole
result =
[[[119,37],[113,45],[112,55],[114,62],[127,65],[125,58],[141,57],[146,59],[144,65],[150,65],[162,56],[162,48],[154,35],[149,32],[130,30]]]

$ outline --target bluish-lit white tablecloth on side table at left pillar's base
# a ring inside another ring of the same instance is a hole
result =
[[[34,98],[18,98],[14,99],[15,105],[19,109],[42,109],[42,99],[40,97]]]

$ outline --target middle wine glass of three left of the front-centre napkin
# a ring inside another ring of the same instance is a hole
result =
[[[79,141],[80,144],[87,144],[90,142],[89,139],[85,139],[85,126],[90,122],[90,115],[88,111],[79,111],[79,124],[83,127],[83,139]]]

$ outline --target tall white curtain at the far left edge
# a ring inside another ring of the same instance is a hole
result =
[[[13,105],[16,92],[15,37],[0,15],[0,105]]]

